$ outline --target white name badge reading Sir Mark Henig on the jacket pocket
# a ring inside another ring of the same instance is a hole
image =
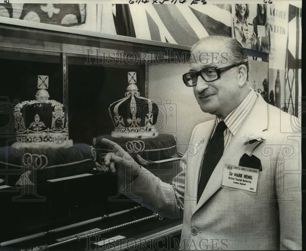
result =
[[[256,195],[258,177],[258,169],[225,164],[221,187],[234,188]]]

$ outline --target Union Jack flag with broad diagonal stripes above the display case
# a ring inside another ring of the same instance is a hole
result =
[[[230,4],[112,4],[112,14],[117,35],[190,46],[210,35],[231,36]]]

